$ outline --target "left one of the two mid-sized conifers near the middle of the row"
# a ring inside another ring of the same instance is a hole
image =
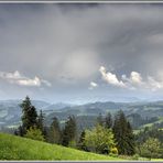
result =
[[[59,122],[56,117],[53,118],[53,122],[50,127],[50,133],[48,133],[48,142],[51,143],[61,143],[61,129],[59,129]]]

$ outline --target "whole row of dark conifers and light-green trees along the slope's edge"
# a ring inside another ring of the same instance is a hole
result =
[[[99,115],[93,129],[77,133],[74,116],[67,118],[63,128],[56,117],[47,127],[44,124],[45,116],[42,110],[37,113],[29,97],[20,107],[22,108],[22,124],[15,130],[17,135],[100,154],[133,155],[138,153],[137,138],[122,110],[118,111],[115,117],[109,112],[106,117]]]

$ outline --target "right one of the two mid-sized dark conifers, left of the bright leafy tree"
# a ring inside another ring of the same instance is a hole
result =
[[[69,116],[68,120],[65,123],[65,128],[63,130],[63,140],[62,144],[68,146],[70,141],[76,141],[76,120],[74,116]]]

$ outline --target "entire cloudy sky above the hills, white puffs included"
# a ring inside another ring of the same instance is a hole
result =
[[[163,6],[0,3],[0,99],[163,99]]]

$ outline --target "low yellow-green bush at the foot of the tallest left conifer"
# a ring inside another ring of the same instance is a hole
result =
[[[26,134],[24,135],[25,138],[30,138],[33,140],[40,140],[40,141],[44,141],[44,137],[42,134],[42,131],[40,129],[37,129],[36,127],[31,127],[28,131]]]

